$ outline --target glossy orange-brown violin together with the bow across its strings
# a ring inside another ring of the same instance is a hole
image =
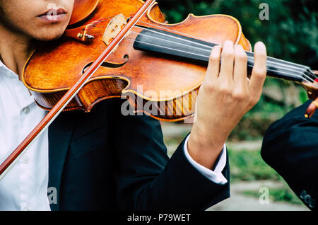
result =
[[[242,45],[252,69],[251,44],[232,16],[190,14],[169,24],[155,0],[76,0],[63,37],[41,45],[25,64],[23,83],[49,113],[0,166],[1,177],[63,110],[90,112],[102,100],[126,98],[135,113],[157,120],[192,117],[211,50],[225,40]],[[310,67],[268,57],[267,75],[318,97]]]

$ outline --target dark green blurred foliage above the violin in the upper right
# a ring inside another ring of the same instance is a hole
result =
[[[269,21],[259,19],[261,3],[269,4]],[[159,4],[170,23],[182,21],[189,13],[234,16],[247,39],[263,41],[272,57],[312,67],[318,64],[316,0],[165,0]]]

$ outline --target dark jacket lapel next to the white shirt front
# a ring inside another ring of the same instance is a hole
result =
[[[64,162],[71,141],[73,120],[69,114],[62,113],[49,126],[49,186],[57,189],[57,204],[51,204],[52,210],[59,210],[59,193]]]

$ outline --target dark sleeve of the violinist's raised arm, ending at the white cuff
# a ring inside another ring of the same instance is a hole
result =
[[[158,120],[116,115],[114,151],[119,161],[117,199],[121,209],[204,210],[230,196],[228,160],[223,169],[228,183],[213,183],[189,163],[184,140],[168,158]]]

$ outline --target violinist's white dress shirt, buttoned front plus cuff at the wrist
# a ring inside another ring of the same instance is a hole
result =
[[[0,163],[28,136],[46,113],[37,107],[18,76],[0,61]],[[48,149],[46,130],[0,180],[0,210],[50,210],[47,197]],[[199,165],[189,156],[187,141],[184,154],[206,178],[214,183],[228,182],[221,173],[226,163],[225,147],[214,171]]]

